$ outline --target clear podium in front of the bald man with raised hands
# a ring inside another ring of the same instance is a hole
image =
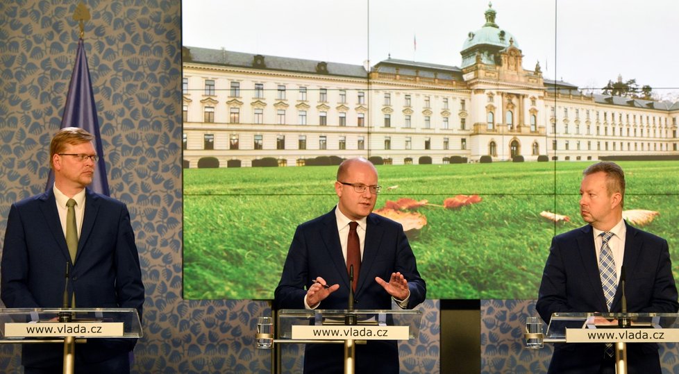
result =
[[[368,340],[416,339],[422,320],[420,310],[281,309],[271,344],[344,344],[344,373],[355,373],[355,345]],[[266,347],[267,344],[258,346]],[[277,364],[278,366],[278,364]]]

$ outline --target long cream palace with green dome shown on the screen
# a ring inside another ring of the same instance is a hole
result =
[[[185,46],[183,166],[679,157],[679,103],[586,95],[543,78],[539,65],[523,69],[517,40],[495,15],[489,8],[467,35],[461,67]]]

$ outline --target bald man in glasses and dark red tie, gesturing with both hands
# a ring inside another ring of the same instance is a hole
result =
[[[354,261],[351,255],[353,227],[358,235],[356,241],[360,241],[357,256],[362,257],[362,260],[356,259],[360,270],[355,280],[354,307],[391,309],[395,300],[399,307],[412,309],[425,300],[426,284],[417,271],[403,226],[372,213],[380,191],[377,182],[377,170],[364,158],[340,164],[335,182],[337,207],[297,227],[274,292],[274,307],[348,307],[352,285],[347,261]],[[343,357],[341,344],[308,344],[304,372],[342,373]],[[359,344],[355,357],[356,373],[399,373],[396,341]]]

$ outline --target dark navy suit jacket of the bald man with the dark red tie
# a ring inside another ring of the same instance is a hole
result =
[[[367,216],[355,309],[392,309],[392,297],[375,282],[375,277],[388,282],[391,274],[397,271],[408,280],[408,309],[412,309],[425,300],[426,284],[417,271],[403,226],[371,213]],[[310,287],[319,276],[329,285],[340,284],[340,289],[321,301],[319,309],[346,309],[350,284],[335,210],[297,227],[283,266],[283,275],[274,292],[274,307],[304,309],[305,288]],[[308,344],[305,373],[342,373],[342,352],[341,344]],[[366,345],[358,345],[355,363],[357,373],[398,373],[396,341],[369,341]]]

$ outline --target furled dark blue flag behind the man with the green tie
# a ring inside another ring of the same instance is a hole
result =
[[[61,128],[66,127],[83,128],[88,133],[94,135],[94,149],[97,151],[97,155],[99,155],[99,161],[97,161],[97,169],[94,171],[94,178],[92,178],[90,189],[99,194],[110,196],[108,178],[106,178],[106,162],[104,162],[103,146],[101,146],[101,136],[99,135],[97,105],[94,103],[90,68],[87,67],[87,56],[85,56],[85,46],[83,46],[82,39],[78,40],[76,65],[73,67],[71,84],[66,96],[66,107],[61,119]],[[50,189],[53,184],[54,172],[50,170],[45,189]]]

